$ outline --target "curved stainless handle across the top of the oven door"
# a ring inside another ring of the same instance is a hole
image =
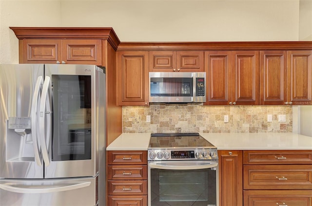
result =
[[[150,168],[154,169],[207,169],[207,168],[216,168],[218,163],[211,162],[151,162],[148,164]]]

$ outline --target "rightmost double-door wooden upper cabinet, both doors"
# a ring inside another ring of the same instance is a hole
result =
[[[312,105],[312,51],[260,52],[260,104]]]

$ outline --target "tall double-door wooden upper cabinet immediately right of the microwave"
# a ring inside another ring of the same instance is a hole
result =
[[[259,52],[205,52],[205,105],[258,105]]]

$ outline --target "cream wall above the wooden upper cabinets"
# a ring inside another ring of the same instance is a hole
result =
[[[301,1],[311,0],[0,0],[0,63],[19,59],[9,26],[113,27],[120,41],[296,41],[303,22],[309,40],[312,9]]]

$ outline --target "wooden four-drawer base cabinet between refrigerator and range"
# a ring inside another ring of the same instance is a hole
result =
[[[147,151],[107,151],[108,206],[147,206]]]

